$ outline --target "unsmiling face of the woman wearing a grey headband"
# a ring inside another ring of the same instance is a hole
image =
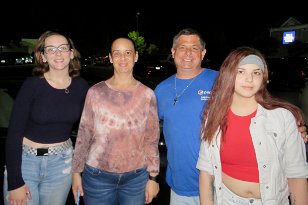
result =
[[[238,67],[235,78],[234,97],[254,99],[263,82],[263,72],[256,64]]]

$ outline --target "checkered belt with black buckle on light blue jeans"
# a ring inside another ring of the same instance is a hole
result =
[[[72,140],[68,139],[64,143],[52,147],[34,148],[28,145],[23,145],[23,151],[35,156],[48,156],[63,153],[72,146]]]

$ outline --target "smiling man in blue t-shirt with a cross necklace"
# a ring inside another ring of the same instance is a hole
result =
[[[181,30],[171,48],[177,73],[155,89],[158,115],[167,145],[166,181],[170,205],[199,205],[199,148],[201,112],[207,103],[217,71],[202,68],[205,42],[190,28]]]

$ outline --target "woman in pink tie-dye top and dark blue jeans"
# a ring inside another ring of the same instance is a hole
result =
[[[138,52],[132,40],[113,41],[109,58],[114,75],[89,89],[81,116],[74,197],[79,191],[88,205],[150,203],[159,191],[156,98],[133,76]]]

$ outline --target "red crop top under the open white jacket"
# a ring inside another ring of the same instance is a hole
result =
[[[222,171],[228,176],[258,183],[258,164],[249,131],[251,118],[256,112],[247,116],[237,116],[231,110],[228,112],[228,129],[220,158]]]

